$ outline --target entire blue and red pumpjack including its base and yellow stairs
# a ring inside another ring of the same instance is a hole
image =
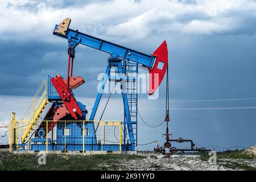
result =
[[[107,77],[102,77],[101,87],[100,90],[98,90],[96,101],[94,102],[89,117],[89,121],[92,122],[85,123],[85,129],[89,133],[86,135],[86,139],[89,142],[86,142],[85,150],[108,150],[108,148],[111,148],[111,150],[119,150],[118,145],[113,144],[111,146],[104,146],[102,143],[98,144],[96,139],[96,130],[98,126],[95,129],[93,124],[102,93],[104,92],[106,82],[109,80],[122,82],[121,90],[124,107],[122,151],[134,151],[137,146],[138,93],[136,88],[138,68],[147,69],[149,73],[148,94],[154,94],[166,73],[168,62],[167,43],[164,40],[164,42],[149,55],[86,35],[78,30],[72,30],[69,28],[70,23],[71,19],[66,18],[61,23],[56,24],[53,30],[53,35],[68,40],[67,77],[64,78],[61,75],[48,77],[47,98],[42,106],[39,107],[39,111],[34,114],[35,116],[31,119],[26,131],[23,133],[21,139],[22,144],[20,147],[30,140],[29,135],[32,132],[32,128],[36,126],[35,123],[38,121],[40,114],[46,105],[51,103],[52,105],[49,107],[40,126],[34,131],[35,138],[31,139],[31,142],[34,142],[34,144],[31,144],[31,150],[46,150],[46,148],[42,148],[42,145],[38,144],[42,142],[51,143],[51,145],[47,145],[47,150],[82,150],[82,140],[76,140],[78,135],[81,137],[81,133],[69,133],[69,138],[72,138],[72,141],[70,140],[68,141],[69,143],[67,143],[65,140],[65,145],[63,144],[65,138],[64,125],[61,123],[61,121],[68,121],[65,122],[65,126],[68,125],[72,130],[81,130],[81,126],[72,121],[85,121],[86,114],[88,114],[86,106],[77,101],[75,94],[73,94],[73,89],[76,89],[85,83],[84,78],[73,76],[73,63],[76,54],[75,48],[81,44],[110,54],[105,69],[105,75],[107,75]],[[113,72],[113,69],[114,72],[117,73],[115,76],[110,74]],[[46,121],[52,122],[46,123]],[[54,141],[54,143],[51,140],[48,141],[48,139],[46,141],[46,138],[44,138],[49,131],[53,130],[53,127],[57,127],[57,140]]]

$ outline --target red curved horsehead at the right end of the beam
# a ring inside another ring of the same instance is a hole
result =
[[[154,67],[149,69],[148,94],[152,95],[161,84],[168,64],[168,49],[166,40],[152,53],[156,57]]]

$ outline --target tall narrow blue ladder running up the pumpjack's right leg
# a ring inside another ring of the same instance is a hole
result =
[[[137,110],[138,110],[138,63],[125,60],[125,74],[126,74],[126,95],[130,110],[131,124],[133,126],[134,144],[137,147]]]

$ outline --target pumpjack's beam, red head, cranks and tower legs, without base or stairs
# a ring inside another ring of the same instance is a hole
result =
[[[72,89],[75,89],[81,84],[84,84],[84,80],[81,77],[72,76],[73,59],[75,58],[76,46],[82,44],[99,51],[107,52],[110,54],[110,57],[108,58],[108,65],[106,67],[105,73],[108,75],[109,81],[125,80],[126,82],[126,86],[121,84],[121,90],[124,107],[124,136],[128,134],[129,138],[124,137],[123,144],[124,146],[129,144],[129,147],[124,147],[125,150],[134,150],[134,147],[137,146],[138,93],[133,91],[129,92],[130,90],[134,89],[134,86],[137,85],[137,77],[134,76],[133,73],[138,73],[138,68],[144,68],[148,70],[148,94],[152,95],[155,90],[158,89],[166,73],[168,62],[168,50],[166,41],[164,40],[164,42],[151,55],[147,55],[130,48],[107,42],[106,40],[83,34],[78,30],[71,30],[69,28],[70,23],[71,19],[66,18],[59,25],[56,24],[53,31],[53,35],[68,40],[69,55],[67,81],[65,81],[60,75],[56,76],[55,78],[51,78],[53,86],[63,101],[63,104],[57,108],[53,118],[58,120],[62,117],[65,117],[65,115],[70,114],[73,119],[78,119],[77,115],[80,117],[82,115],[81,109],[77,105],[75,97],[72,94]],[[70,64],[71,73],[69,75]],[[118,76],[115,76],[114,78],[110,76],[110,70],[113,68],[115,68],[118,73]],[[89,117],[90,121],[93,121],[96,115],[96,111],[98,105],[100,104],[102,93],[104,91],[107,80],[107,78],[102,78],[101,88],[98,91],[92,113]]]

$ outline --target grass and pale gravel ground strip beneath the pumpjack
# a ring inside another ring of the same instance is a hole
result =
[[[0,152],[0,170],[218,170],[220,167],[228,170],[256,170],[256,159],[243,154],[242,151],[218,152],[217,166],[208,164],[208,154],[202,154],[200,159],[147,159],[143,156],[117,154],[84,156],[48,154],[45,165],[39,165],[38,158],[36,154]],[[168,165],[163,166],[163,164]]]

